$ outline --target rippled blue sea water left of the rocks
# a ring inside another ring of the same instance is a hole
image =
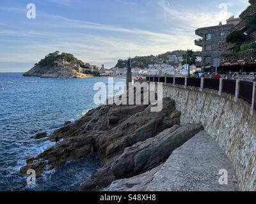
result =
[[[72,191],[99,168],[97,158],[93,163],[85,159],[68,162],[46,172],[35,186],[26,186],[27,178],[19,175],[26,158],[54,145],[35,140],[36,133],[51,134],[97,106],[93,103],[96,82],[109,84],[108,78],[52,79],[0,73],[0,191]],[[116,82],[124,84],[125,80]]]

